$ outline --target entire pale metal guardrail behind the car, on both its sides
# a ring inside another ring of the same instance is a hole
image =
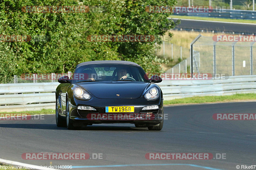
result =
[[[54,83],[0,84],[1,112],[41,110],[55,107]],[[230,76],[226,80],[163,80],[158,84],[164,100],[194,96],[255,93],[256,75]]]

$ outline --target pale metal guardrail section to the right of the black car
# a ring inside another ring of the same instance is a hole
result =
[[[230,76],[227,80],[165,80],[159,85],[164,100],[255,93],[256,76]]]

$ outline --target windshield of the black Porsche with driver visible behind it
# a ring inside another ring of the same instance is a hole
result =
[[[128,64],[93,64],[80,66],[72,74],[73,83],[93,81],[136,81],[148,82],[145,71]]]

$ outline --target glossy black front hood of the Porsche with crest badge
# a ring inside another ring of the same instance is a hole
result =
[[[91,92],[95,97],[100,99],[116,98],[139,98],[144,89],[149,85],[148,82],[84,82],[77,83],[84,89]],[[119,94],[119,96],[118,96]]]

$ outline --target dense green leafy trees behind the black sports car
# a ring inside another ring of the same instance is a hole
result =
[[[88,35],[163,35],[175,26],[170,13],[148,13],[147,5],[173,5],[168,1],[130,0],[3,0],[2,35],[30,35],[29,42],[0,42],[0,78],[9,82],[22,73],[62,73],[92,60],[128,60],[147,72],[159,72],[155,42],[90,42]],[[103,6],[103,12],[27,13],[23,6]],[[171,36],[171,34],[170,34]],[[39,37],[39,38],[38,38]],[[160,40],[156,41],[158,44]]]

